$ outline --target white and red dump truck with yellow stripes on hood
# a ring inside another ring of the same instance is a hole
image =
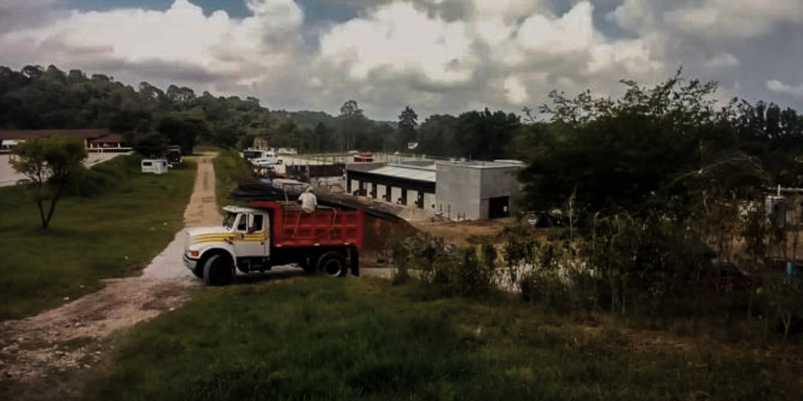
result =
[[[309,213],[291,202],[251,201],[226,206],[221,226],[188,229],[184,265],[207,285],[224,286],[238,273],[296,264],[308,273],[360,275],[365,210],[319,207]]]

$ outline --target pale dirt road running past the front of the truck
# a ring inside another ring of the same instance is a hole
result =
[[[214,153],[198,156],[198,174],[185,226],[221,221],[214,195]],[[140,277],[106,286],[37,316],[0,324],[0,399],[63,399],[104,360],[109,334],[181,306],[198,280],[181,263],[182,234]]]

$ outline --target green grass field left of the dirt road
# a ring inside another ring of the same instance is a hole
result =
[[[183,227],[195,164],[139,172],[137,156],[92,168],[70,186],[42,229],[22,188],[0,188],[0,320],[22,318],[148,265]]]

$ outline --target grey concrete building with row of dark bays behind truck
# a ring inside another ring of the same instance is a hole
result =
[[[510,216],[521,184],[516,160],[349,164],[346,190],[452,220]]]

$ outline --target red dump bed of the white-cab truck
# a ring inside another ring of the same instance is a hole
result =
[[[362,248],[365,211],[321,209],[313,213],[285,209],[279,202],[252,201],[256,208],[272,213],[271,244],[277,248],[300,246],[346,246]]]

